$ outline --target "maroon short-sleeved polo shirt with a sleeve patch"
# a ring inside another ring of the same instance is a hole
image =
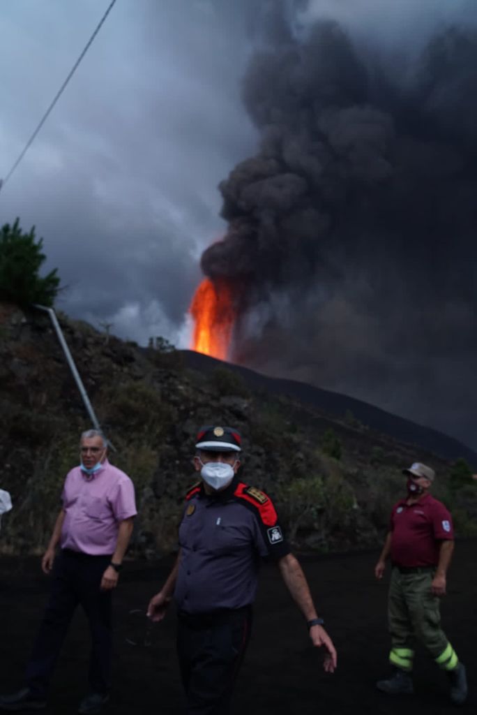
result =
[[[441,541],[453,539],[452,518],[430,494],[409,506],[401,499],[391,513],[391,561],[396,566],[437,566]]]

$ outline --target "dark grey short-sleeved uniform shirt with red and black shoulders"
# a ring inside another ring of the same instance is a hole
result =
[[[203,485],[189,491],[179,546],[174,599],[191,614],[248,606],[261,557],[277,560],[290,551],[271,499],[237,478],[211,496]]]

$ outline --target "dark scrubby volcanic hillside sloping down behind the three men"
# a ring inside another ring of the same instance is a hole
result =
[[[477,465],[477,455],[456,440],[344,395],[176,351],[161,338],[141,348],[66,315],[59,320],[114,447],[111,461],[136,485],[132,553],[174,550],[184,491],[196,480],[194,435],[207,423],[241,430],[243,478],[271,493],[296,548],[377,545],[403,490],[401,468],[417,458],[436,469],[435,493],[452,508],[458,533],[475,533],[468,463]],[[7,304],[0,304],[0,415],[0,488],[14,501],[0,548],[40,551],[64,475],[78,463],[79,433],[91,424],[49,316]]]

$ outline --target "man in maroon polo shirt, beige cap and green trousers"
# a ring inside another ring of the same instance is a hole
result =
[[[391,558],[388,620],[393,673],[376,686],[391,695],[413,693],[413,641],[418,638],[446,671],[451,700],[461,704],[467,696],[466,669],[441,629],[439,612],[453,552],[451,515],[428,493],[435,478],[430,467],[416,462],[403,473],[408,476],[408,495],[393,506],[390,530],[374,570],[376,578],[382,578],[386,558]]]

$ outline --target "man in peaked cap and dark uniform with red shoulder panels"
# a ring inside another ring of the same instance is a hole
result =
[[[233,428],[208,426],[196,441],[194,465],[202,480],[186,495],[179,556],[163,588],[151,598],[148,615],[161,621],[174,595],[186,713],[226,715],[250,636],[260,557],[278,563],[313,645],[327,651],[328,672],[336,668],[336,651],[271,499],[236,475],[240,434]]]

